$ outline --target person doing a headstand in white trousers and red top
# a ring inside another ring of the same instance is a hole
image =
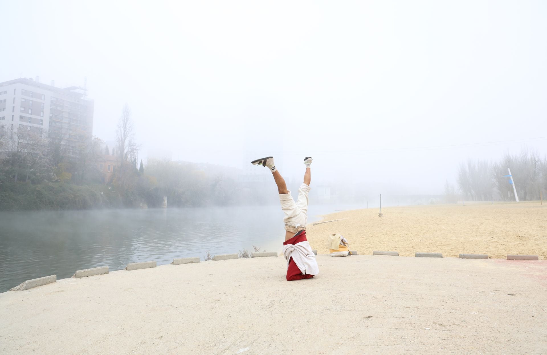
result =
[[[254,165],[267,167],[274,175],[277,190],[281,201],[281,209],[285,216],[285,242],[283,243],[283,256],[287,259],[287,281],[309,279],[319,274],[319,268],[315,255],[306,239],[308,193],[311,181],[311,157],[304,158],[306,173],[304,184],[298,189],[296,202],[287,190],[287,184],[274,164],[273,157],[266,157],[252,161]]]

